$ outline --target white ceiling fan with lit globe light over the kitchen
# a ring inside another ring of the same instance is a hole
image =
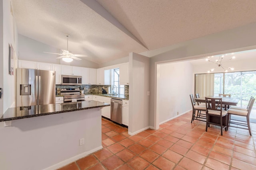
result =
[[[48,52],[44,52],[44,53],[48,53]],[[78,61],[82,60],[78,57],[88,57],[88,55],[86,55],[86,54],[72,54],[72,53],[70,53],[70,51],[68,51],[68,35],[67,35],[67,50],[62,49],[61,54],[59,54],[59,53],[50,53],[50,54],[62,55],[60,57],[57,57],[56,59],[62,59],[62,61],[65,61],[68,63],[73,61],[73,59],[78,60]]]

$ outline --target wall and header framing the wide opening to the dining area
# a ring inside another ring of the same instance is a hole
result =
[[[171,45],[164,52],[150,58],[150,126],[157,128],[156,77],[157,64],[200,59],[202,57],[256,49],[256,23],[214,33],[190,41]],[[159,49],[158,49],[159,51]],[[153,53],[153,52],[152,52]],[[148,54],[152,54],[148,52]]]

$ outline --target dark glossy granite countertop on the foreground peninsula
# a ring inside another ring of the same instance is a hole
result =
[[[0,118],[1,121],[10,121],[16,119],[24,119],[29,117],[37,117],[44,115],[52,115],[57,113],[65,113],[69,111],[78,111],[84,109],[93,109],[98,107],[110,106],[110,104],[96,102],[93,100],[82,102],[68,102],[62,104],[47,104],[37,106],[11,107]]]

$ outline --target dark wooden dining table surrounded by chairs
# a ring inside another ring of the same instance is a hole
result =
[[[239,102],[239,98],[232,98],[232,97],[219,97],[219,96],[204,96],[204,97],[200,97],[200,98],[196,98],[195,101],[196,102],[200,102],[200,103],[205,103],[205,97],[207,98],[222,98],[222,105],[224,105],[224,109],[227,110],[227,106],[236,106]]]

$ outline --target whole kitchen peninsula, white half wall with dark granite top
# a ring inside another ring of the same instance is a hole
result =
[[[8,108],[0,118],[7,125],[0,131],[0,168],[57,169],[102,149],[105,106],[110,104],[83,101]]]

